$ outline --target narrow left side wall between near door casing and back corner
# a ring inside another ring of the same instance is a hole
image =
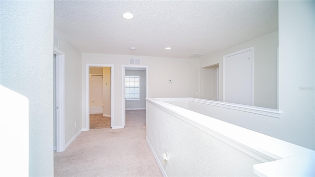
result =
[[[82,130],[81,52],[59,35],[59,49],[64,53],[64,143]],[[75,126],[76,123],[76,126]]]

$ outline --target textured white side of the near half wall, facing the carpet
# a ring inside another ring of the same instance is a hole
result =
[[[169,177],[256,176],[252,165],[257,160],[148,101],[146,125],[147,138]],[[162,158],[166,152],[167,163]]]

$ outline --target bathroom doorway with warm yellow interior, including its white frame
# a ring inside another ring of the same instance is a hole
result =
[[[92,71],[91,73],[90,70]],[[92,78],[92,80],[90,80],[90,78]],[[90,90],[90,81],[92,81],[92,85],[100,85],[102,88],[96,87],[92,89],[92,87]],[[90,113],[92,113],[91,115],[94,113],[99,114],[102,120],[104,120],[104,118],[109,119],[108,122],[110,123],[107,126],[114,128],[114,65],[86,64],[86,83],[86,131],[90,130],[91,127]],[[98,91],[99,94],[90,94],[95,91]]]

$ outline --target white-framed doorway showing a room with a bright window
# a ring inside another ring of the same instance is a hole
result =
[[[124,126],[145,126],[148,66],[123,65],[122,71]]]

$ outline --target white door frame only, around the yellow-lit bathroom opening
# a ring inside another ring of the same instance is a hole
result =
[[[90,66],[110,67],[110,126],[114,128],[114,64],[86,64],[86,129],[90,130]]]

